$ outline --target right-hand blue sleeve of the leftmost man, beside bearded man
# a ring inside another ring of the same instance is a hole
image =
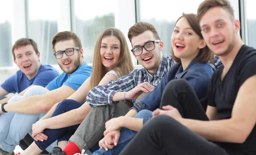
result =
[[[58,75],[58,72],[54,70],[43,70],[41,72],[38,72],[32,84],[45,87],[50,81],[52,81]]]

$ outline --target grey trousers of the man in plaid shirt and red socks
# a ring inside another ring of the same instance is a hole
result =
[[[140,102],[147,94],[140,95],[136,102]],[[105,131],[105,123],[111,118],[125,115],[129,107],[122,101],[116,106],[96,106],[91,109],[84,121],[80,124],[70,141],[80,146],[80,149],[88,150],[102,138]]]

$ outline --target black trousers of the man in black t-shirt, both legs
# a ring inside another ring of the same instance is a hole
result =
[[[170,81],[163,92],[161,106],[176,107],[183,118],[207,121],[207,115],[186,80]],[[159,115],[145,123],[120,155],[229,155],[175,119]]]

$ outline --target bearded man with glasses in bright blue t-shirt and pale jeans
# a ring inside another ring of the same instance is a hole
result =
[[[27,134],[32,124],[55,104],[72,95],[90,76],[84,62],[81,40],[73,32],[59,32],[52,38],[52,49],[63,73],[45,88],[32,86],[23,96],[12,97],[0,107],[0,153],[9,155]],[[12,102],[12,103],[11,103]],[[52,144],[54,146],[56,144]],[[49,146],[47,150],[51,150]]]

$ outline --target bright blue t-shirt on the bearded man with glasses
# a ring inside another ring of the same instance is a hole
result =
[[[90,77],[91,72],[92,67],[88,66],[88,64],[84,62],[84,64],[79,65],[79,68],[71,75],[63,72],[57,78],[52,80],[46,87],[49,90],[54,90],[64,85],[76,91],[84,83],[84,81]]]

